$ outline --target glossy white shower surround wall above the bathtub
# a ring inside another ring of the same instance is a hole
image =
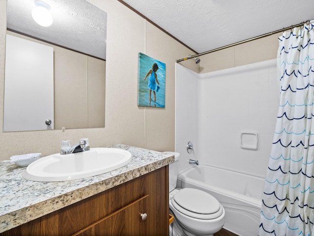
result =
[[[200,163],[265,177],[279,103],[276,60],[206,74],[176,65],[176,151],[180,169]],[[259,134],[259,149],[240,147],[242,132]],[[194,154],[186,152],[188,141]]]

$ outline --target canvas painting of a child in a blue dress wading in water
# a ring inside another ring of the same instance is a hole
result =
[[[166,64],[138,54],[138,106],[165,107]]]

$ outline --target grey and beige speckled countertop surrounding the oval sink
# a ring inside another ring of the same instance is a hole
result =
[[[114,145],[132,154],[117,170],[71,181],[35,182],[23,178],[26,167],[0,162],[0,233],[145,175],[174,161],[171,154]]]

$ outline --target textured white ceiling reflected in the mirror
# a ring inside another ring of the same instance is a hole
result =
[[[44,0],[53,23],[42,27],[31,17],[33,0],[8,0],[7,28],[105,59],[107,14],[85,0]]]

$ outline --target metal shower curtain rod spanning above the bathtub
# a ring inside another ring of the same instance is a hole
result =
[[[183,58],[183,59],[178,59],[178,60],[177,60],[177,63],[178,63],[178,62],[181,62],[181,61],[183,61],[183,60],[187,60],[187,59],[191,59],[191,58],[196,58],[196,57],[199,57],[199,56],[203,56],[203,55],[205,55],[205,54],[209,54],[209,53],[217,52],[217,51],[222,50],[222,49],[230,48],[230,47],[233,47],[233,46],[242,44],[242,43],[247,43],[247,42],[250,42],[250,41],[253,41],[253,40],[256,40],[256,39],[260,39],[260,38],[263,38],[263,37],[267,37],[267,36],[270,36],[270,35],[275,34],[275,33],[279,33],[279,32],[282,32],[282,31],[286,31],[286,30],[288,30],[288,29],[291,29],[291,30],[292,30],[292,28],[294,28],[294,27],[303,26],[306,22],[310,22],[310,20],[307,20],[307,21],[305,21],[305,22],[301,22],[300,24],[297,24],[297,25],[294,25],[294,26],[291,25],[290,27],[287,27],[287,28],[284,28],[284,29],[278,29],[278,30],[272,31],[272,32],[270,32],[270,33],[265,33],[265,34],[262,34],[262,35],[260,35],[260,36],[254,37],[254,38],[249,38],[249,39],[246,39],[246,40],[237,42],[237,43],[233,43],[233,44],[229,44],[229,45],[227,45],[227,46],[223,46],[223,47],[220,47],[220,48],[216,48],[216,49],[213,49],[213,50],[204,52],[204,53],[196,54],[196,55],[189,56],[189,57],[186,57],[186,58]]]

